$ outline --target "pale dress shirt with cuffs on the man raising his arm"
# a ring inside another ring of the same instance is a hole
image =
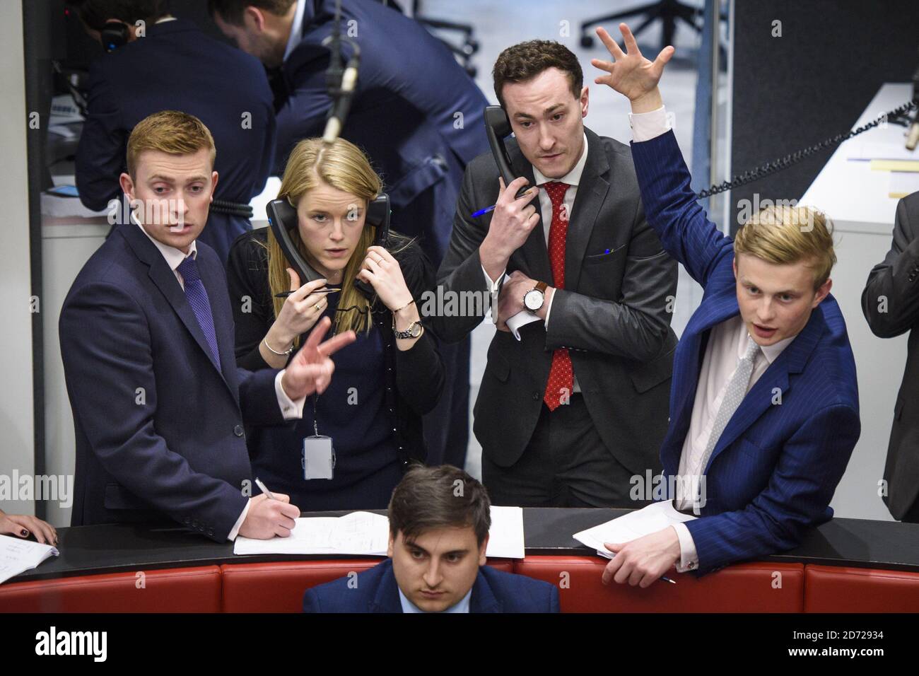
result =
[[[629,114],[632,128],[632,138],[636,143],[649,141],[670,130],[670,120],[664,106],[647,113]],[[683,450],[680,453],[678,475],[684,487],[698,486],[699,476],[705,472],[701,467],[702,455],[711,436],[711,428],[718,415],[721,400],[731,381],[731,376],[737,369],[737,364],[743,357],[746,349],[747,337],[750,335],[743,324],[741,315],[725,319],[720,324],[711,327],[709,343],[702,358],[702,370],[698,374],[696,398],[693,401],[692,418],[689,430],[683,441]],[[760,376],[766,372],[773,361],[776,361],[782,350],[789,346],[795,337],[779,340],[775,345],[761,347],[754,356],[753,373],[747,392],[754,386]],[[693,496],[684,495],[676,500],[678,510],[686,510],[692,506]],[[674,526],[676,536],[680,541],[680,562],[677,571],[694,570],[698,567],[696,544],[685,523]]]

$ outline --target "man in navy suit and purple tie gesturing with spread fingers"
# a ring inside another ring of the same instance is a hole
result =
[[[252,495],[244,422],[300,418],[332,376],[319,341],[287,369],[247,372],[233,356],[221,261],[196,241],[217,186],[208,128],[166,110],[128,141],[121,188],[142,208],[86,262],[64,300],[61,352],[76,434],[72,524],[165,516],[217,542],[289,535],[300,510]]]

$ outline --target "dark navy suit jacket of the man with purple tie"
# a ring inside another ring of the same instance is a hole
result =
[[[175,273],[134,223],[99,247],[64,300],[74,526],[169,517],[225,542],[252,495],[244,420],[283,422],[278,372],[237,369],[223,267],[197,246],[219,369]]]

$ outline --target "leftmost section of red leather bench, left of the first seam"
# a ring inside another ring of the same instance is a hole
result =
[[[0,612],[220,613],[221,569],[166,568],[4,584]]]

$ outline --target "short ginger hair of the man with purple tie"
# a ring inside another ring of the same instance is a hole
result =
[[[202,148],[210,151],[214,165],[217,148],[204,122],[181,110],[161,110],[138,122],[128,138],[128,173],[137,178],[137,163],[145,150],[169,155],[192,155]]]

